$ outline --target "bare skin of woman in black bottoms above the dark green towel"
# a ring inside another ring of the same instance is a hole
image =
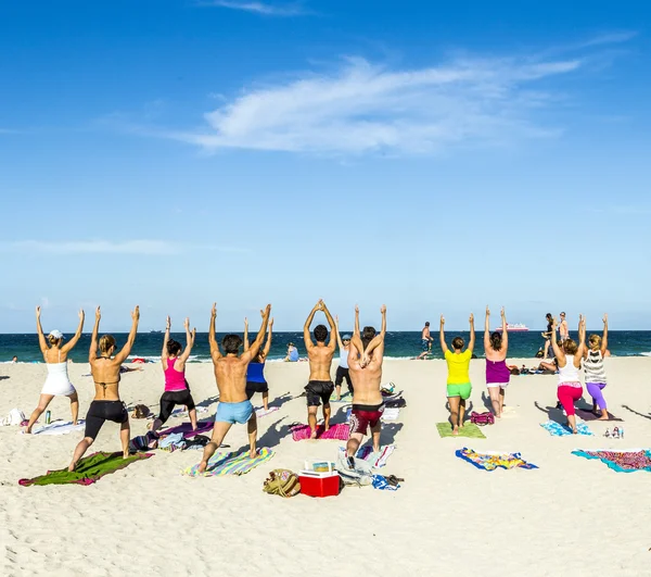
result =
[[[92,328],[90,352],[88,355],[90,373],[95,387],[93,401],[119,401],[119,367],[126,361],[127,356],[129,356],[133,342],[136,341],[138,322],[140,321],[140,308],[136,305],[136,309],[131,312],[131,330],[129,331],[126,344],[118,353],[116,353],[115,344],[112,344],[107,350],[100,351],[100,354],[98,355],[98,335],[100,331],[101,318],[102,314],[98,306],[95,311],[95,322]],[[114,354],[115,356],[113,356]],[[119,429],[119,439],[123,447],[123,456],[125,459],[129,456],[130,432],[129,419],[127,419],[126,423],[120,425]],[[75,471],[77,463],[93,442],[94,440],[90,437],[84,437],[84,439],[79,441],[79,444],[75,448],[75,453],[68,471]]]

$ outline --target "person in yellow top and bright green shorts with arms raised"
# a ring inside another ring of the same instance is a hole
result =
[[[441,348],[448,365],[447,398],[450,405],[450,424],[452,435],[459,435],[459,427],[463,427],[465,415],[465,400],[470,398],[472,385],[470,384],[470,360],[474,348],[474,316],[470,313],[470,342],[468,349],[462,351],[465,344],[461,337],[452,339],[452,350],[445,342],[445,318],[441,315]]]

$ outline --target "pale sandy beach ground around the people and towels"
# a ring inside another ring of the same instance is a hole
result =
[[[183,477],[201,453],[157,451],[90,487],[23,488],[20,478],[67,465],[82,434],[31,437],[0,427],[0,575],[649,575],[651,475],[570,454],[651,447],[651,359],[609,359],[607,369],[605,397],[625,419],[624,440],[602,437],[613,426],[607,423],[590,424],[595,437],[549,436],[536,402],[556,404],[553,376],[512,377],[513,411],[484,428],[487,439],[442,439],[435,423],[447,417],[445,363],[387,360],[383,380],[405,391],[408,406],[383,431],[383,443],[397,444],[384,471],[406,482],[396,492],[348,488],[330,499],[261,491],[271,468],[298,471],[305,459],[336,455],[339,441],[292,440],[288,425],[305,422],[304,397],[259,419],[261,446],[277,454],[243,477]],[[305,363],[269,363],[270,399],[298,396],[307,371]],[[71,366],[80,416],[93,392],[85,373],[87,364]],[[28,415],[46,367],[0,365],[0,376],[10,377],[0,380],[0,416],[12,407]],[[472,404],[485,411],[484,361],[473,361],[471,376]],[[189,365],[188,379],[197,403],[214,400],[210,365]],[[162,388],[162,369],[151,364],[123,376],[122,397],[129,406],[156,407]],[[66,399],[50,407],[53,418],[69,418]],[[333,407],[334,422],[343,422],[342,405]],[[132,435],[145,430],[144,421],[131,426]],[[118,450],[117,428],[107,423],[93,449]],[[227,442],[246,446],[245,427],[231,429]],[[540,468],[486,473],[455,456],[464,446],[520,451]]]

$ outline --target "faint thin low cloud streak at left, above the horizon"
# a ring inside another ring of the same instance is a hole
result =
[[[0,242],[2,252],[49,253],[49,254],[179,254],[191,250],[215,252],[248,252],[239,247],[219,247],[215,244],[190,244],[164,240],[75,240],[46,242],[42,240],[16,240]]]

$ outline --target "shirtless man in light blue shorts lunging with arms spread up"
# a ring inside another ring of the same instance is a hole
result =
[[[210,327],[208,329],[208,342],[210,343],[210,356],[215,367],[215,379],[219,390],[219,404],[215,415],[215,427],[213,428],[213,438],[206,444],[204,454],[199,465],[199,473],[204,473],[208,467],[208,460],[219,449],[224,438],[235,423],[247,424],[250,455],[253,459],[257,451],[255,443],[257,441],[257,419],[251,401],[246,397],[246,368],[252,359],[257,356],[258,351],[265,340],[267,325],[269,323],[269,313],[271,305],[267,304],[264,311],[260,311],[263,324],[255,341],[250,349],[239,356],[242,339],[239,335],[226,335],[221,340],[221,346],[226,355],[219,351],[219,346],[215,340],[215,319],[217,317],[217,305],[213,304],[210,312]]]

